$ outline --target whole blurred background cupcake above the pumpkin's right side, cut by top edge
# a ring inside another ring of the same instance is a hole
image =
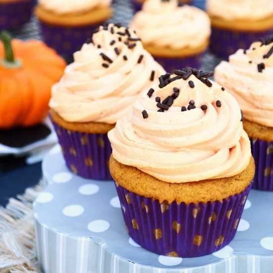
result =
[[[111,0],[39,0],[35,10],[44,41],[59,54],[80,50],[112,14]]]

